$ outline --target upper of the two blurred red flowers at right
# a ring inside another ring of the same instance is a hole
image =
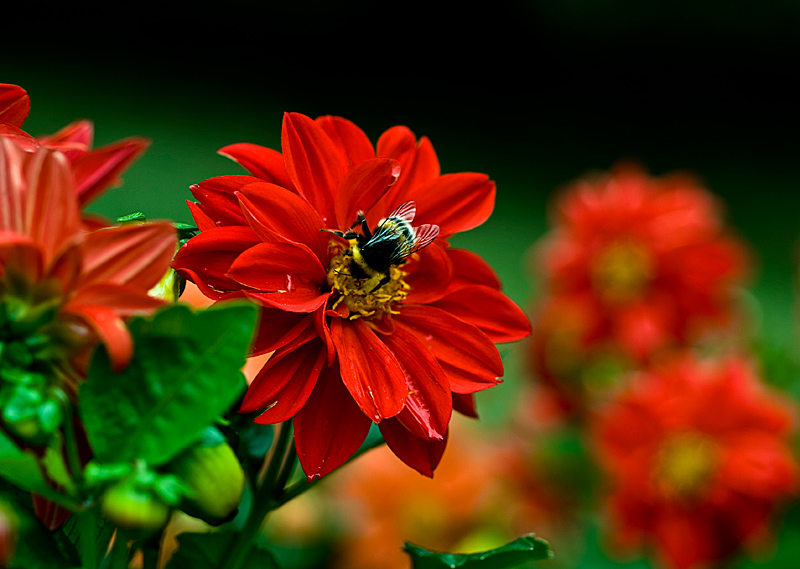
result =
[[[692,178],[632,168],[578,181],[539,246],[548,295],[581,305],[581,344],[643,360],[726,324],[742,246]]]

